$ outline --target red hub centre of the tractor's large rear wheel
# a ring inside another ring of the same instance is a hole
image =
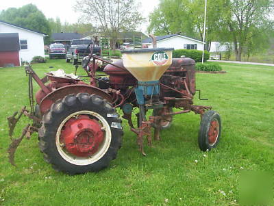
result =
[[[88,157],[96,153],[103,142],[102,125],[88,115],[69,119],[64,125],[60,142],[66,151],[78,157]]]

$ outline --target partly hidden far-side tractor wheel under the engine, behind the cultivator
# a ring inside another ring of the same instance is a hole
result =
[[[172,107],[162,107],[159,109],[153,110],[153,116],[162,116],[164,112],[173,112]],[[171,127],[173,121],[173,116],[162,116],[160,119],[160,129],[168,129]],[[152,125],[153,127],[156,127],[156,125]]]

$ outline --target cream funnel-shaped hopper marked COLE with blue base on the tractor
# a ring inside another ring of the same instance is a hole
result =
[[[139,105],[161,105],[159,79],[171,66],[172,51],[173,48],[122,51],[125,68],[138,80],[135,94]]]

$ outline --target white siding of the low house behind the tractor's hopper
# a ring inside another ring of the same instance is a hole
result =
[[[174,36],[157,41],[157,47],[171,47],[174,49],[184,49],[184,44],[197,44],[197,50],[203,51],[203,43],[182,36]],[[152,43],[147,44],[149,48],[152,48]]]

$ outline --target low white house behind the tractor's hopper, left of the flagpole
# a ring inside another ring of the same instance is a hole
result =
[[[197,49],[203,51],[203,42],[195,38],[182,36],[180,34],[171,34],[166,36],[156,36],[157,47],[173,47],[174,49]],[[152,39],[142,40],[142,46],[152,48]]]

